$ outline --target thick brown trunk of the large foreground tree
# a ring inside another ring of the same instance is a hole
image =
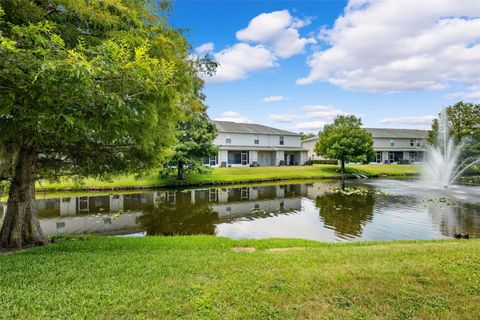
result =
[[[37,155],[32,148],[20,148],[0,230],[2,248],[22,248],[47,242],[40,228],[35,202],[36,162]]]

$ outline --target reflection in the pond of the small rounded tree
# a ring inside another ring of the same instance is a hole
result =
[[[335,230],[340,238],[357,237],[363,226],[372,221],[375,196],[327,193],[317,197],[316,207],[326,227]]]

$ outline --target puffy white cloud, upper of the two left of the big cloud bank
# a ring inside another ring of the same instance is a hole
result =
[[[302,38],[298,31],[309,23],[310,19],[294,18],[288,10],[262,13],[237,32],[237,39],[263,44],[276,56],[289,58],[302,53],[308,43],[316,42],[314,38]]]

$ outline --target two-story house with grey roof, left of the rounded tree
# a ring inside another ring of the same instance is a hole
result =
[[[218,154],[208,165],[214,167],[303,165],[307,150],[300,135],[259,124],[213,121],[217,127]]]

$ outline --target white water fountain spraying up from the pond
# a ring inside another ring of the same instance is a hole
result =
[[[430,146],[428,150],[423,180],[433,186],[448,188],[469,168],[480,163],[480,158],[467,158],[459,163],[463,147],[463,143],[455,143],[450,135],[449,117],[447,109],[444,109],[438,120],[436,145]]]

